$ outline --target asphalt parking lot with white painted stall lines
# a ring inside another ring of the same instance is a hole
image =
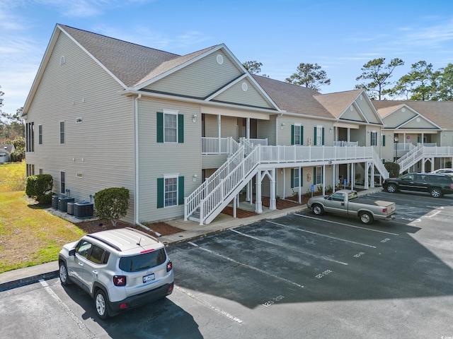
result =
[[[367,198],[395,201],[396,218],[362,225],[306,210],[171,246],[173,294],[108,321],[56,279],[1,292],[0,316],[26,320],[13,299],[35,293],[47,326],[74,315],[83,326],[69,334],[83,338],[453,338],[453,197]]]

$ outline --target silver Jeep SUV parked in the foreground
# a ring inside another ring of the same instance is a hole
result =
[[[76,283],[88,292],[101,319],[173,292],[164,244],[130,227],[86,234],[64,245],[58,261],[62,285]]]

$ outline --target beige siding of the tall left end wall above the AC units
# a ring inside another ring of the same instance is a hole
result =
[[[64,56],[65,64],[60,65]],[[70,81],[68,81],[70,79]],[[133,220],[134,120],[131,98],[69,38],[60,34],[28,112],[35,126],[42,124],[42,145],[35,133],[35,152],[26,161],[54,178],[65,172],[66,188],[76,201],[114,186],[130,189]],[[82,118],[81,123],[76,119]],[[65,143],[59,143],[59,121],[65,122]],[[77,173],[83,178],[76,177]]]

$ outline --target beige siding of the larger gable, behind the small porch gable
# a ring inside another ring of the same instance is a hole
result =
[[[221,65],[216,59],[219,54],[224,59]],[[226,54],[218,51],[148,85],[146,89],[190,97],[207,97],[241,74]]]

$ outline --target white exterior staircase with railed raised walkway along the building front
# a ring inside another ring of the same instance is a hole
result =
[[[226,160],[190,196],[185,198],[184,220],[209,224],[239,194],[258,170],[274,167],[297,167],[373,162],[379,173],[389,177],[379,155],[372,147],[328,147],[300,145],[253,145],[241,140],[239,150]]]

